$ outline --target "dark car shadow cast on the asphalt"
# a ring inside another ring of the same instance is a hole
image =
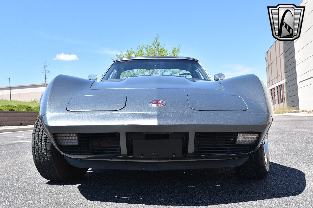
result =
[[[91,169],[75,183],[90,201],[145,205],[206,206],[296,196],[305,189],[305,174],[270,162],[262,180],[240,180],[233,168],[187,171]]]

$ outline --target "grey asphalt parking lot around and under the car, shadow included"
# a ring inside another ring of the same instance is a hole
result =
[[[36,170],[32,131],[0,133],[0,207],[312,207],[313,116],[276,116],[270,172],[239,180],[233,168],[190,171],[90,169],[54,183]]]

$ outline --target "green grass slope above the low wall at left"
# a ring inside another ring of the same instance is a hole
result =
[[[39,111],[39,102],[0,100],[0,111]]]

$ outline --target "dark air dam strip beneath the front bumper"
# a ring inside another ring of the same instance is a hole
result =
[[[193,161],[107,161],[107,160],[80,160],[64,156],[64,158],[75,167],[100,168],[111,170],[187,170],[207,169],[220,167],[237,167],[248,160],[249,156],[225,159],[225,160],[193,160]]]

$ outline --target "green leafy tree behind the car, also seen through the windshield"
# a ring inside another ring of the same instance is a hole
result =
[[[126,52],[120,52],[116,54],[117,58],[125,58],[125,57],[137,57],[137,56],[178,56],[180,52],[180,45],[178,47],[173,47],[171,53],[165,48],[166,44],[163,46],[159,42],[160,36],[157,34],[154,38],[151,45],[138,46],[136,50],[132,48],[130,50],[126,50]],[[138,76],[138,75],[153,75],[153,74],[164,74],[169,72],[171,75],[175,75],[180,73],[182,70],[178,69],[135,69],[125,71],[121,74],[122,77],[130,77],[130,76]]]

